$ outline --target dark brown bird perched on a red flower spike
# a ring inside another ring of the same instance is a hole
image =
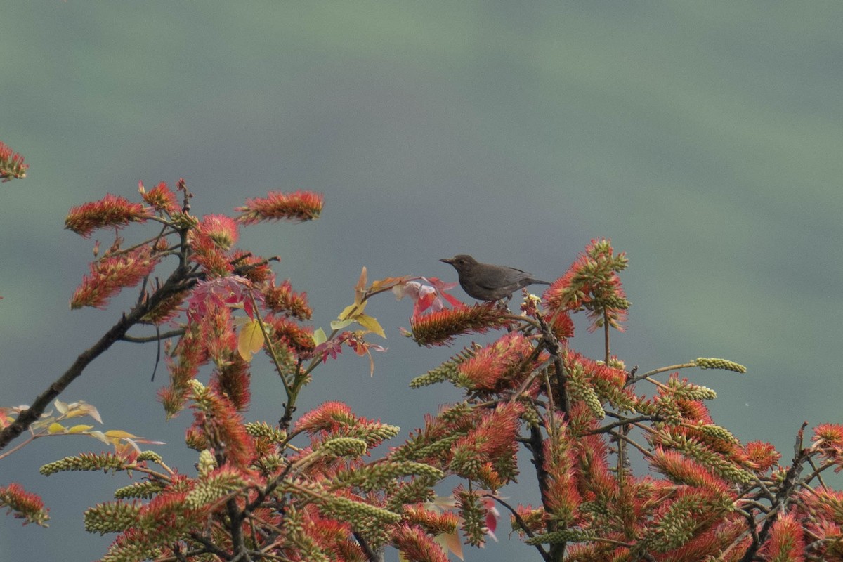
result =
[[[459,286],[480,301],[499,301],[511,298],[513,292],[521,287],[540,283],[550,285],[547,281],[533,279],[529,273],[514,267],[503,265],[481,264],[470,255],[459,254],[453,258],[439,260],[454,265],[459,274]]]

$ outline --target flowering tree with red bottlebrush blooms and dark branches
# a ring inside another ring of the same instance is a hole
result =
[[[23,158],[5,145],[0,174],[25,175]],[[117,533],[102,560],[362,561],[383,559],[391,546],[403,560],[441,562],[448,552],[461,557],[462,540],[484,544],[501,511],[542,560],[843,560],[843,495],[822,480],[824,470],[843,466],[843,427],[815,428],[810,445],[803,427],[792,461],[780,465],[769,444],[738,442],[717,426],[705,406],[715,393],[677,373],[744,367],[698,358],[627,369],[609,346],[629,308],[619,276],[627,261],[607,240],[588,244],[543,297],[524,292],[519,313],[502,302],[465,305],[435,278],[369,282],[364,268],[354,301],[326,333],[305,324],[307,297],[277,281],[273,258],[236,247],[240,227],[319,217],[320,195],[270,193],[246,201],[236,217],[194,216],[183,180],[175,191],[141,185],[140,195],[142,202],[106,195],[66,220],[83,237],[115,233],[101,255],[95,246],[72,308],[106,308],[128,287],[137,287],[137,302],[29,407],[0,409],[0,449],[29,435],[0,459],[47,433],[83,433],[112,450],[62,458],[41,473],[142,474],[115,501],[85,512],[89,531]],[[126,244],[121,229],[136,224],[155,228]],[[384,330],[365,309],[384,292],[413,300],[406,335],[419,345],[500,335],[416,377],[413,388],[452,384],[464,399],[372,460],[397,427],[341,402],[303,415],[296,404],[314,370],[343,349],[370,360],[382,351],[368,338]],[[599,360],[572,347],[571,316],[581,312],[603,335]],[[170,467],[140,447],[153,442],[126,431],[67,425],[82,415],[97,420],[96,409],[56,397],[118,340],[163,346],[169,383],[159,399],[168,416],[192,410],[185,442],[196,450],[195,469]],[[285,396],[277,422],[244,421],[259,352]],[[527,469],[518,465],[522,449]],[[651,473],[636,474],[638,463]],[[534,482],[539,504],[501,495],[518,474]],[[460,484],[441,498],[434,486],[446,477]],[[0,505],[46,524],[40,498],[18,484],[0,486]]]

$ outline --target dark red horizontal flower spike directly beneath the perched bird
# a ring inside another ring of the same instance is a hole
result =
[[[448,345],[455,335],[485,334],[490,329],[506,328],[512,320],[505,318],[505,314],[507,311],[496,302],[483,302],[411,318],[410,326],[418,345]]]

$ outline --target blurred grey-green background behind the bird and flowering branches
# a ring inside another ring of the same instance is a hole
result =
[[[68,208],[183,177],[200,215],[267,190],[325,194],[318,222],[250,227],[241,244],[282,256],[315,325],[351,301],[362,265],[455,280],[438,259],[470,253],[550,280],[608,237],[631,259],[613,350],[627,366],[743,363],[682,374],[717,390],[718,423],[785,460],[803,420],[841,421],[841,3],[0,0],[0,14],[0,140],[31,166],[0,188],[2,404],[30,403],[131,300],[68,310],[92,245],[62,229]],[[459,350],[400,337],[410,310],[373,302],[389,346],[374,377],[346,353],[300,411],[343,399],[403,437],[456,399],[406,388]],[[578,325],[572,345],[599,354]],[[62,399],[168,442],[156,449],[192,474],[191,416],[164,422],[154,356],[115,345]],[[266,362],[254,381],[249,419],[277,420]],[[44,495],[53,517],[0,521],[0,562],[105,553],[81,512],[126,476],[37,474],[91,449],[41,440],[0,462],[0,484]],[[465,559],[537,559],[507,532]]]

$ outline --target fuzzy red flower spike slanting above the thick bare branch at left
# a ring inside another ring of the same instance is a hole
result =
[[[141,246],[126,254],[110,255],[90,265],[90,276],[84,276],[82,284],[70,300],[70,308],[105,308],[110,297],[124,287],[137,285],[153,272],[158,259],[151,256],[148,246]]]

